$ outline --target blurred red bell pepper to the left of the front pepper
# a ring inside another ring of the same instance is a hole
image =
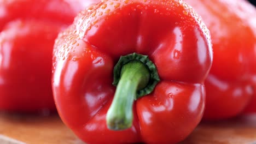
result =
[[[0,1],[0,110],[55,110],[54,40],[90,1]]]

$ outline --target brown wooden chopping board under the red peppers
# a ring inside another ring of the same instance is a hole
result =
[[[21,116],[0,113],[0,143],[85,144],[57,115]],[[201,123],[181,144],[256,144],[256,115],[224,122]]]

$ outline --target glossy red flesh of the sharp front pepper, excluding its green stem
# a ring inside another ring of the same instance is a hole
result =
[[[130,128],[110,130],[114,65],[133,52],[149,57],[160,82],[133,104]],[[86,143],[176,143],[201,120],[211,63],[208,29],[184,2],[103,1],[56,39],[54,99],[62,121]]]

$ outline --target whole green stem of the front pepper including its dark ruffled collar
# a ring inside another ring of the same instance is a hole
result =
[[[148,56],[132,53],[121,56],[114,67],[117,86],[114,99],[107,112],[107,126],[111,130],[124,130],[132,126],[133,102],[151,93],[160,81],[158,71]]]

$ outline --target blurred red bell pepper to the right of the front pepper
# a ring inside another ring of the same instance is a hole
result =
[[[203,118],[216,120],[240,114],[255,97],[256,10],[247,1],[185,1],[210,29],[213,65],[206,86]],[[251,105],[256,110],[256,100]],[[251,111],[250,110],[250,111]]]

